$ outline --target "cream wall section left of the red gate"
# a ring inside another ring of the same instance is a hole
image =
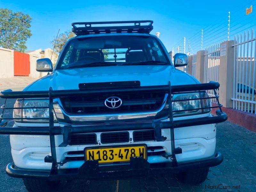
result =
[[[14,53],[11,49],[0,47],[0,77],[14,76]]]

